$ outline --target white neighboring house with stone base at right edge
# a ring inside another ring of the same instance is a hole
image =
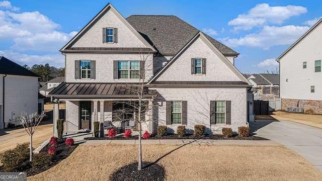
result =
[[[277,58],[282,109],[298,107],[322,114],[322,19]]]

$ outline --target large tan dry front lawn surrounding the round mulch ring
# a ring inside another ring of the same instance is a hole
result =
[[[143,145],[153,162],[175,145]],[[137,160],[134,145],[81,145],[51,169],[30,180],[108,180]],[[185,145],[158,161],[167,180],[320,180],[322,173],[283,146]]]

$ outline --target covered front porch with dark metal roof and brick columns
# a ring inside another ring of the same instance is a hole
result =
[[[66,103],[64,132],[94,132],[94,122],[99,122],[100,136],[114,128],[118,133],[125,129],[138,130],[138,103],[141,103],[141,130],[153,132],[153,99],[135,93],[133,85],[112,83],[63,83],[52,92],[54,102],[54,135],[57,135],[56,120],[59,119],[59,104]],[[75,87],[76,86],[76,87]],[[103,86],[103,88],[101,88]],[[116,89],[118,88],[119,89]],[[72,91],[72,88],[74,90]],[[114,88],[114,91],[110,91]],[[122,91],[124,88],[125,91]],[[84,91],[83,89],[86,89]],[[106,91],[106,89],[108,91]],[[83,90],[83,91],[82,91]],[[95,94],[93,93],[95,92]],[[93,94],[92,94],[93,93]]]

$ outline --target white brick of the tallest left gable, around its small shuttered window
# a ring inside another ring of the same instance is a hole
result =
[[[103,28],[117,28],[117,43],[103,43]],[[146,46],[114,14],[108,11],[72,47],[140,47]]]

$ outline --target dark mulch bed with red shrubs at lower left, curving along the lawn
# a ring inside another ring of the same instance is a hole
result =
[[[15,171],[26,172],[27,176],[31,176],[55,166],[61,160],[67,158],[71,154],[71,152],[73,152],[73,150],[78,146],[77,144],[74,144],[73,146],[67,146],[64,142],[65,139],[58,140],[58,145],[56,146],[56,154],[52,157],[52,162],[49,166],[42,166],[40,168],[32,167],[28,157],[28,159],[21,164],[20,168]],[[49,148],[50,145],[47,144],[40,152],[47,153]],[[2,167],[0,167],[0,171],[2,171]]]

